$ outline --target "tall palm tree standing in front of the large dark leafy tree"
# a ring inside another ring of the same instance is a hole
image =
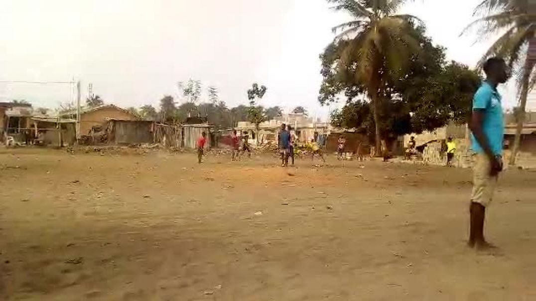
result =
[[[338,33],[333,43],[346,40],[339,63],[357,61],[356,82],[363,83],[373,104],[376,153],[381,150],[379,112],[385,98],[385,83],[390,75],[401,75],[412,55],[419,52],[419,43],[409,34],[409,14],[396,14],[405,0],[328,0],[332,9],[346,11],[353,20],[333,27]]]

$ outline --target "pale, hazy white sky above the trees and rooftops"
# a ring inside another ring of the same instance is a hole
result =
[[[490,45],[459,36],[480,0],[415,0],[401,12],[419,17],[447,58],[471,67]],[[218,87],[229,107],[247,104],[256,82],[267,87],[260,104],[318,104],[319,54],[331,28],[347,20],[325,0],[0,0],[0,81],[80,80],[107,103],[154,105],[169,94],[183,101],[177,82]],[[513,87],[504,104],[516,104]],[[75,99],[70,84],[0,83],[0,101],[25,99],[57,108]]]

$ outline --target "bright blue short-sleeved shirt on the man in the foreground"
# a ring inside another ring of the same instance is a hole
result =
[[[482,129],[488,138],[490,148],[495,155],[502,155],[504,141],[504,121],[501,106],[501,95],[488,82],[480,85],[473,97],[473,110],[483,110],[484,120]],[[471,134],[471,149],[474,152],[484,152],[473,134]]]

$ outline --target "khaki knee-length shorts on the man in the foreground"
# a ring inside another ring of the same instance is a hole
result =
[[[489,175],[491,164],[485,154],[475,153],[473,160],[473,192],[471,194],[471,202],[480,203],[482,206],[487,207],[492,202],[498,177],[491,177]]]

